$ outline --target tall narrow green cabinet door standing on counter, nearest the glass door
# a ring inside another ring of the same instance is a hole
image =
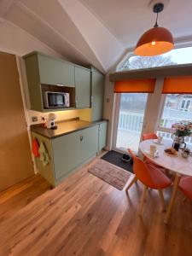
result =
[[[92,120],[97,121],[102,119],[104,76],[102,75],[102,73],[92,72],[91,82]]]

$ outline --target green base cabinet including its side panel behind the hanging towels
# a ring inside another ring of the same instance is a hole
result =
[[[96,157],[99,125],[53,139],[32,132],[32,138],[36,138],[39,145],[44,143],[50,159],[49,164],[43,166],[41,160],[36,158],[38,172],[55,187],[79,166]]]

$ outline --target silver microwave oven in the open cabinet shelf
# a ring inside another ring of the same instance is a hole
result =
[[[44,108],[68,108],[70,107],[69,93],[66,92],[43,92]]]

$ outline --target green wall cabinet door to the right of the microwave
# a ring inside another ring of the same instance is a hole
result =
[[[75,67],[76,108],[90,108],[90,71]]]

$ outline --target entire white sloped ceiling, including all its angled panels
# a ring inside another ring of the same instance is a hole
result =
[[[67,60],[92,64],[107,72],[153,26],[155,15],[148,7],[150,2],[0,0],[0,17],[31,33]],[[160,2],[166,3],[160,26],[169,28],[177,42],[191,41],[192,1]]]

